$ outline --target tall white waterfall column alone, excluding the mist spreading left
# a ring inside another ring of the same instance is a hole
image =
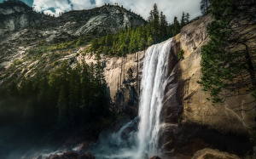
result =
[[[142,78],[137,132],[137,158],[158,154],[160,112],[163,105],[172,39],[148,48]]]

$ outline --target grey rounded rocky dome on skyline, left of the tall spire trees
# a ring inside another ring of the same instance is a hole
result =
[[[75,30],[73,33],[76,36],[88,33],[102,35],[107,32],[119,31],[125,27],[136,27],[145,24],[145,21],[139,15],[133,14],[122,7],[112,5],[63,14],[58,21],[62,24],[67,24],[65,21],[70,19],[73,26],[75,26],[73,27]]]

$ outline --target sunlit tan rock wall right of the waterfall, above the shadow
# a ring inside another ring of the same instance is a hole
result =
[[[227,97],[224,103],[212,105],[209,94],[198,83],[201,78],[201,47],[209,40],[207,24],[211,20],[211,16],[196,20],[175,37],[184,50],[184,60],[177,64],[181,72],[182,122],[206,125],[224,133],[252,133],[256,127],[256,103],[251,93]]]

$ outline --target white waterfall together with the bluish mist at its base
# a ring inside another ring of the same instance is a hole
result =
[[[168,79],[168,59],[172,39],[147,49],[143,62],[143,78],[139,114],[118,132],[102,134],[90,151],[98,159],[143,159],[160,156],[160,113]]]

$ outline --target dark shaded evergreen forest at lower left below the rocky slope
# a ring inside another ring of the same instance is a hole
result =
[[[19,101],[15,109],[20,107],[30,122],[70,128],[97,121],[101,127],[100,121],[113,119],[107,90],[100,61],[74,68],[63,62],[53,71],[6,85],[0,94]]]

